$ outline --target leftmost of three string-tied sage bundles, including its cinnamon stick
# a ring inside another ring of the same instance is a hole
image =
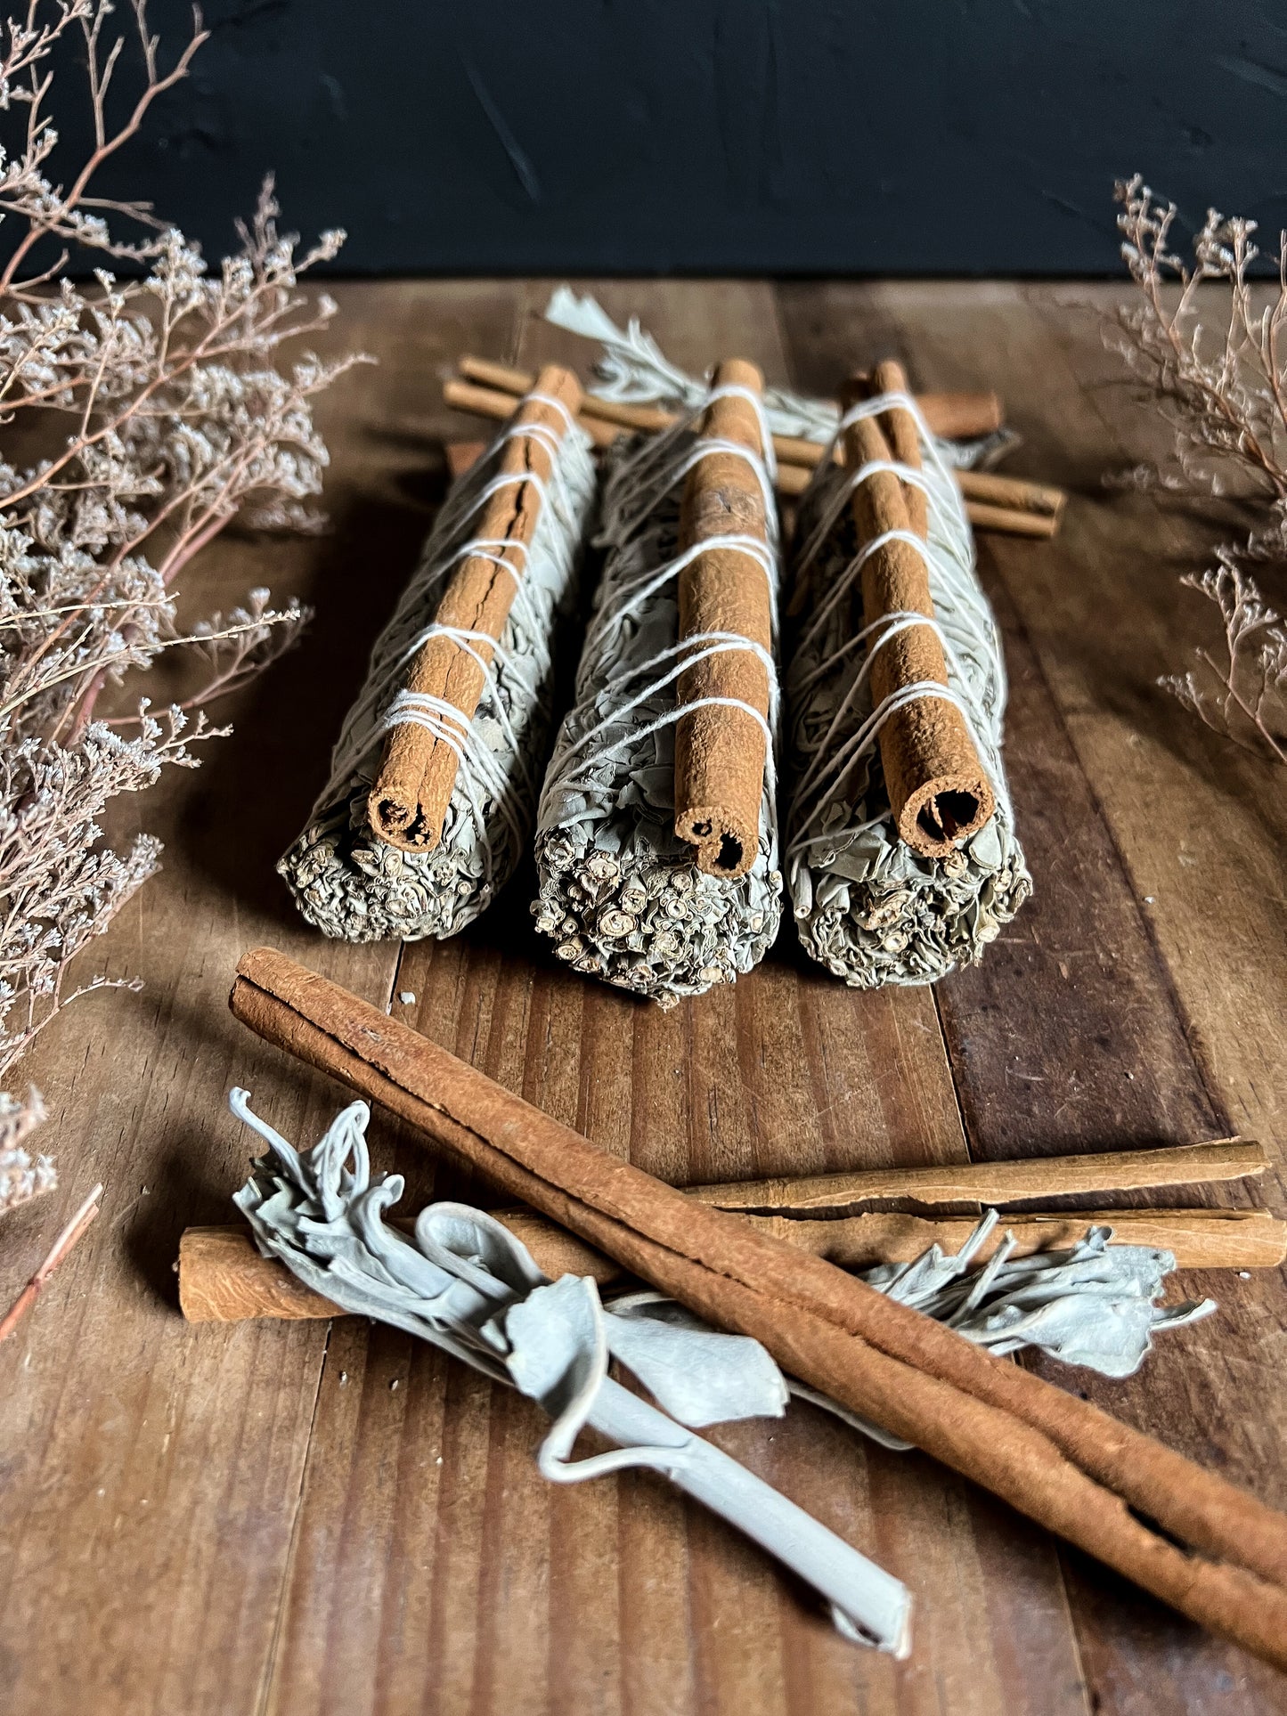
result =
[[[376,642],[309,824],[278,865],[328,935],[453,935],[527,844],[551,657],[595,475],[580,386],[549,366],[451,487]]]

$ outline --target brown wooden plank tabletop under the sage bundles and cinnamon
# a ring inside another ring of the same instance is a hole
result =
[[[906,1663],[846,1644],[758,1551],[652,1476],[546,1484],[537,1409],[402,1333],[178,1316],[178,1236],[232,1218],[252,1150],[228,1086],[302,1143],[345,1100],[227,1012],[233,964],[259,942],[676,1182],[1227,1131],[1261,1138],[1275,1163],[1287,1151],[1287,777],[1155,685],[1210,637],[1206,606],[1175,578],[1206,565],[1218,534],[1100,486],[1165,439],[1102,345],[1121,288],[590,285],[690,369],[740,353],[827,393],[894,353],[920,386],[992,386],[1023,432],[1011,468],[1072,491],[1054,544],[980,542],[1035,899],[980,970],[934,990],[853,994],[788,930],[752,976],[669,1014],[554,963],[530,928],[530,872],[441,946],[347,947],[305,928],[273,863],[443,492],[441,438],[472,432],[441,407],[444,367],[465,350],[585,362],[532,316],[549,283],[341,287],[335,343],[381,362],[323,408],[333,534],[223,541],[184,590],[197,614],[269,583],[317,618],[228,709],[235,736],[199,772],[124,807],[124,832],[165,837],[165,872],[101,958],[144,990],[77,1004],[19,1067],[46,1097],[62,1189],[0,1230],[0,1299],[96,1179],[106,1198],[0,1349],[0,1707],[1284,1711],[1272,1670],[928,1459],[812,1407],[714,1436],[908,1580]],[[427,1157],[379,1117],[372,1139],[419,1206]],[[1284,1206],[1275,1174],[1229,1198]],[[1184,1289],[1211,1292],[1218,1316],[1167,1337],[1134,1380],[1048,1371],[1284,1507],[1282,1275]]]

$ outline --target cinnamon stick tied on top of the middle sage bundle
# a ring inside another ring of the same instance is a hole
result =
[[[714,386],[764,391],[753,364],[719,364]],[[700,441],[731,441],[764,456],[760,422],[750,400],[714,400],[702,417]],[[709,453],[688,474],[680,511],[680,544],[748,535],[769,541],[765,494],[753,467],[736,453]],[[680,573],[680,640],[712,631],[750,638],[772,652],[769,577],[740,549],[698,554]],[[702,644],[695,645],[700,652]],[[769,669],[750,650],[707,656],[680,674],[680,704],[736,698],[769,717]],[[755,863],[764,798],[764,728],[745,709],[707,704],[674,729],[674,832],[697,846],[697,867],[733,880]]]

